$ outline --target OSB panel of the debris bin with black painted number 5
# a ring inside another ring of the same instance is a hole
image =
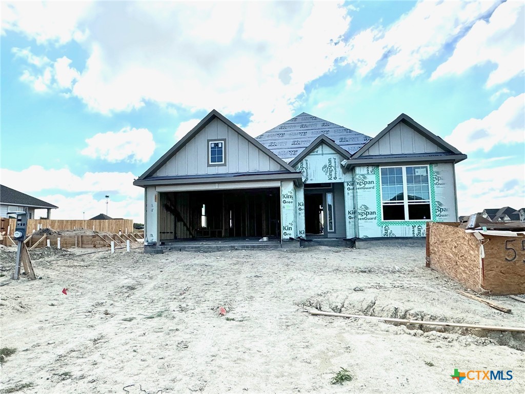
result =
[[[482,287],[492,294],[525,294],[525,238],[484,235]]]

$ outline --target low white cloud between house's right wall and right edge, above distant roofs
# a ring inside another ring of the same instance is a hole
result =
[[[470,215],[486,208],[523,207],[525,201],[525,163],[481,168],[468,160],[456,165],[459,215]]]

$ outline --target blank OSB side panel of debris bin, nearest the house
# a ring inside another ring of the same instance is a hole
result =
[[[429,237],[430,268],[479,292],[481,273],[479,243],[472,234],[457,227],[458,223],[431,223]]]

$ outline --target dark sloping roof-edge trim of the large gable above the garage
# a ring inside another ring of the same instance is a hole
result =
[[[223,123],[226,123],[226,125],[229,128],[235,130],[237,133],[239,133],[241,136],[247,139],[250,143],[254,144],[258,149],[266,153],[271,159],[278,162],[286,170],[290,172],[296,172],[296,170],[290,167],[290,165],[288,165],[286,162],[282,161],[279,157],[277,157],[275,153],[271,152],[264,145],[258,142],[255,138],[249,136],[244,130],[239,128],[237,125],[235,125],[232,121],[227,119],[224,115],[219,113],[217,110],[213,109],[200,122],[198,122],[197,126],[195,126],[188,133],[186,133],[186,135],[182,137],[180,141],[178,141],[169,151],[164,153],[162,157],[159,160],[157,160],[155,163],[153,163],[153,165],[148,170],[146,170],[137,180],[141,181],[144,178],[147,178],[153,175],[157,170],[159,170],[168,160],[170,160],[178,151],[180,151],[188,142],[190,142],[199,132],[201,132],[214,119],[219,119]]]

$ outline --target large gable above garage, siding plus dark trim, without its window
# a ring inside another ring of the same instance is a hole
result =
[[[220,165],[209,163],[209,143],[212,141],[224,143],[224,163]],[[234,123],[213,110],[138,180],[150,177],[276,171],[294,170]]]

